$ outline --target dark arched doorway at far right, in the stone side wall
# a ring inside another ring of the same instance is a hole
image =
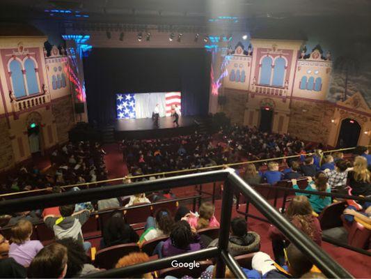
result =
[[[358,145],[361,126],[354,119],[343,119],[341,121],[340,132],[338,137],[338,147],[347,148]]]

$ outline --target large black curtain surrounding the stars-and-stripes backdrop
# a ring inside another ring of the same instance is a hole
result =
[[[182,92],[182,115],[206,115],[210,53],[204,49],[93,48],[84,58],[89,121],[116,119],[116,93]]]

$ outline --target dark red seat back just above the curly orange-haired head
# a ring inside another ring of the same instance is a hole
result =
[[[95,254],[94,265],[100,269],[113,269],[118,260],[131,252],[139,252],[136,243],[120,244],[99,250]]]

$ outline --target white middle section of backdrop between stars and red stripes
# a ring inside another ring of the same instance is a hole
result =
[[[165,116],[165,93],[139,93],[135,94],[136,118],[150,118],[159,104],[159,116]]]

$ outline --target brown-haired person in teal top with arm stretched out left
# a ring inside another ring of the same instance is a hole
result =
[[[311,177],[308,177],[308,186],[306,190],[331,193],[331,187],[329,186],[329,183],[327,183],[327,180],[328,180],[327,176],[326,174],[324,174],[324,172],[317,172],[317,174],[315,175],[315,181],[313,181]],[[292,188],[299,190],[299,186],[297,186],[296,179],[292,179]],[[313,194],[297,193],[296,195],[307,196],[310,205],[312,206],[315,213],[321,213],[322,209],[331,204],[331,197],[315,195],[314,193]]]

